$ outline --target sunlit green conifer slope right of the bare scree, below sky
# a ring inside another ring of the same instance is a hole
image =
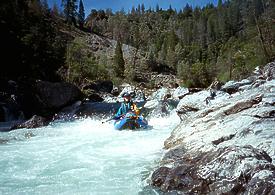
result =
[[[205,86],[217,76],[240,79],[275,57],[275,6],[267,0],[219,1],[215,7],[162,10],[141,4],[130,13],[92,10],[92,32],[146,54],[148,66],[169,66],[185,84]]]

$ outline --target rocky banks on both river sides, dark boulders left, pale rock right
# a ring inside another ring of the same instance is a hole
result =
[[[163,158],[151,175],[156,189],[187,194],[275,193],[274,62],[247,79],[226,83],[214,97],[203,89],[182,87],[145,89],[145,95],[139,91],[142,88],[131,85],[114,90],[111,82],[85,86],[93,90],[90,100],[67,83],[9,81],[4,87],[1,119],[18,121],[7,131],[45,126],[56,119],[111,115],[124,91],[136,91],[136,101],[148,117],[164,117],[176,108],[182,119],[165,141]],[[40,117],[36,112],[49,115]]]

